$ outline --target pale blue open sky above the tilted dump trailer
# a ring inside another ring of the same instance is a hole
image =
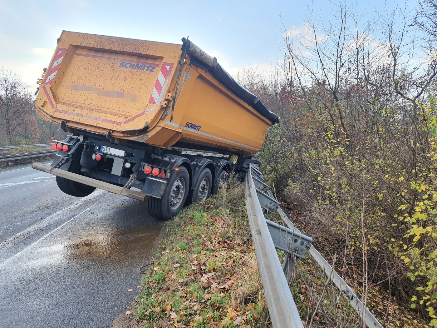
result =
[[[335,10],[329,1],[313,3],[324,20]],[[410,1],[409,7],[415,4]],[[302,0],[0,0],[0,66],[18,73],[35,89],[56,38],[67,30],[173,43],[189,35],[231,73],[251,63],[268,68],[281,56],[277,28],[281,17],[288,29],[301,26],[308,6],[311,2]],[[367,13],[365,20],[375,16],[375,9],[382,11],[384,2],[362,0],[358,7]]]

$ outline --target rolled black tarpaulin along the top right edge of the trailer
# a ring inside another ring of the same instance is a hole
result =
[[[263,115],[266,119],[269,119],[273,124],[279,123],[279,119],[275,113],[272,113],[267,109],[267,107],[255,96],[253,93],[246,90],[241,84],[239,84],[232,76],[226,72],[219,63],[217,59],[209,56],[205,51],[200,49],[197,45],[186,38],[182,38],[182,51],[188,52],[190,55],[194,56],[194,62],[207,69],[212,76],[214,76],[218,81],[228,87],[234,94],[236,94],[240,99],[245,101],[251,107],[253,107],[257,112]],[[200,59],[202,63],[199,63]]]

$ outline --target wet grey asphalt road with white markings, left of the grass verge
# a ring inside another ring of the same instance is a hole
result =
[[[0,209],[0,327],[110,327],[163,230],[142,202],[69,196],[30,166],[0,171]]]

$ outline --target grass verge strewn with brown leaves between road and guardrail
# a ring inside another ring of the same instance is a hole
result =
[[[232,179],[183,209],[166,223],[139,296],[114,326],[270,326],[249,232],[244,186]]]

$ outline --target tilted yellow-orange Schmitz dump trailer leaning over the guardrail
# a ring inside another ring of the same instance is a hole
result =
[[[70,195],[102,188],[147,200],[162,219],[206,199],[232,169],[243,176],[278,118],[182,41],[63,31],[35,105],[71,135],[52,146],[51,166],[34,167]]]

